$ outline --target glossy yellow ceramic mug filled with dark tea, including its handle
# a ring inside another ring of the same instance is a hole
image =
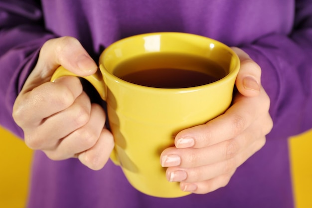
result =
[[[147,33],[108,46],[99,67],[84,78],[107,102],[115,139],[111,159],[147,195],[190,194],[166,180],[159,156],[174,146],[179,131],[204,124],[229,107],[240,67],[236,53],[199,35]],[[76,76],[60,66],[51,81],[65,75]]]

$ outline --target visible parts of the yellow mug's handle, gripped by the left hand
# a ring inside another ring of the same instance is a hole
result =
[[[53,73],[50,81],[54,82],[57,78],[62,77],[62,76],[81,77],[81,76],[78,76],[77,74],[74,74],[71,71],[68,71],[63,66],[59,66]],[[101,98],[106,101],[106,97],[107,97],[106,84],[104,82],[104,79],[100,70],[97,70],[97,72],[95,72],[94,74],[90,76],[84,76],[81,78],[88,80],[94,86],[94,88],[98,91]],[[115,163],[115,165],[120,165],[115,149],[113,149],[110,155],[110,158],[113,161],[113,163]]]

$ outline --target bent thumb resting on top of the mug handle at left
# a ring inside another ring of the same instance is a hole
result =
[[[62,65],[78,76],[88,76],[97,70],[97,64],[74,37],[64,36],[46,41],[39,53],[35,68],[40,68],[41,77],[50,77]]]

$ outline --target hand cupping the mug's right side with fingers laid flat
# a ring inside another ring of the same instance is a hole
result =
[[[260,67],[241,49],[233,50],[241,68],[231,107],[204,125],[179,132],[175,147],[161,153],[167,180],[181,182],[183,191],[206,194],[226,186],[235,170],[264,146],[273,127]]]

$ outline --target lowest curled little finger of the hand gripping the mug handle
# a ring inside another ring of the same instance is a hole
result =
[[[114,148],[114,139],[111,132],[103,129],[97,143],[89,150],[78,155],[82,164],[92,170],[100,170],[107,163]]]

